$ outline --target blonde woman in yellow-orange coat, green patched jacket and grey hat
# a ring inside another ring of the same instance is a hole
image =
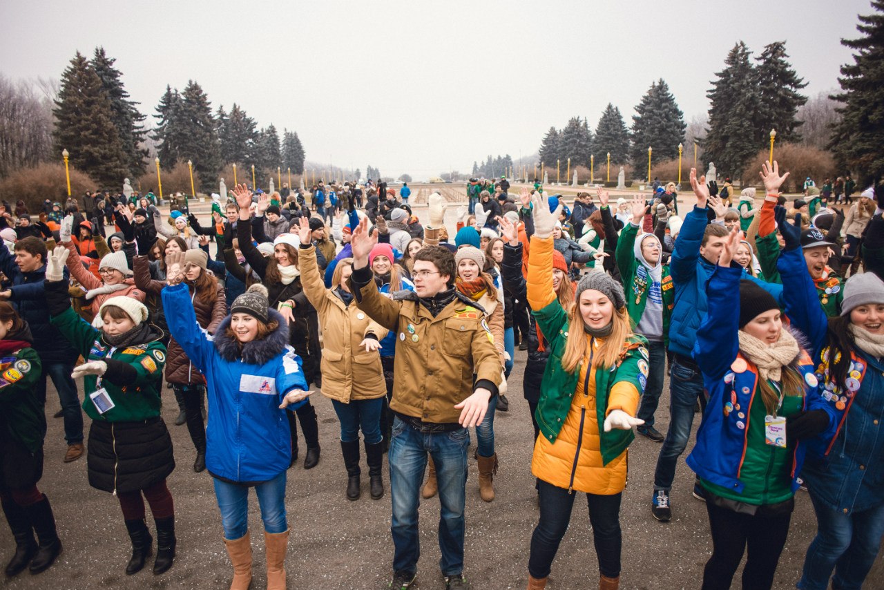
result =
[[[598,556],[599,587],[620,584],[620,504],[626,451],[648,374],[647,342],[632,333],[623,288],[605,272],[577,285],[565,310],[552,290],[552,227],[559,208],[534,195],[535,233],[528,258],[528,303],[550,342],[535,417],[540,435],[531,471],[539,480],[540,521],[531,536],[530,590],[545,588],[568,530],[574,492],[584,492]],[[599,265],[600,266],[600,265]]]

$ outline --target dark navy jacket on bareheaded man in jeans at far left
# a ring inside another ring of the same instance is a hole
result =
[[[0,243],[0,272],[11,280],[10,303],[15,307],[31,328],[34,336],[34,350],[43,364],[73,363],[79,353],[71,343],[50,324],[50,310],[46,306],[46,293],[43,281],[46,280],[46,264],[34,272],[21,272],[15,257]],[[65,280],[68,272],[65,268]]]

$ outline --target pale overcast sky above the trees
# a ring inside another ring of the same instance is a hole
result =
[[[298,132],[314,162],[425,179],[488,154],[537,150],[546,130],[608,102],[631,125],[653,80],[685,120],[734,43],[785,40],[808,95],[837,86],[867,0],[152,2],[2,0],[0,73],[60,77],[103,45],[141,111],[197,80],[213,108]],[[739,91],[739,88],[735,88]]]

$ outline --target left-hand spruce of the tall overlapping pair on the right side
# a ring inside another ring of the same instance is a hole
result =
[[[715,74],[709,98],[709,127],[703,150],[705,165],[714,162],[720,175],[740,178],[743,167],[758,153],[758,134],[753,122],[760,110],[761,95],[746,44],[737,42],[728,52],[725,68]],[[705,170],[705,165],[701,166]]]

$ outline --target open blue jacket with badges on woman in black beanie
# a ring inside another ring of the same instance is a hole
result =
[[[798,250],[794,252],[801,256]],[[700,478],[740,494],[744,487],[739,478],[749,444],[751,406],[762,403],[757,388],[758,369],[740,353],[737,335],[740,280],[744,278],[743,269],[737,264],[730,268],[716,264],[709,279],[708,293],[713,296],[713,303],[708,306],[703,323],[697,329],[697,343],[693,349],[693,356],[703,373],[703,386],[709,393],[709,403],[697,431],[697,444],[687,459],[690,469]],[[826,410],[832,424],[834,414],[820,396],[811,357],[804,350],[798,360],[798,370],[805,380],[804,410]],[[798,489],[798,475],[806,450],[807,445],[803,442],[796,445],[790,471],[793,492]]]

